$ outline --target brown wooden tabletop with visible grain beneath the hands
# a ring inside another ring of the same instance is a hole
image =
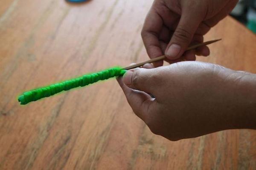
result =
[[[256,131],[168,141],[151,133],[113,80],[26,106],[23,91],[147,59],[140,37],[152,0],[0,2],[0,169],[256,169]],[[256,36],[230,17],[205,40],[209,58],[256,73]]]

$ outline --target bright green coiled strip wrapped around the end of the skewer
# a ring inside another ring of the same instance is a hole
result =
[[[20,104],[28,104],[31,101],[37,101],[41,98],[49,97],[51,95],[55,95],[62,91],[67,91],[69,89],[73,89],[76,87],[83,87],[87,86],[89,84],[96,83],[100,80],[107,80],[109,78],[122,76],[124,75],[126,70],[119,68],[119,67],[113,67],[111,69],[105,69],[101,72],[96,72],[88,75],[83,75],[79,78],[74,78],[72,80],[63,81],[61,83],[52,84],[50,86],[33,89],[28,92],[24,92],[23,95],[20,95],[18,97],[18,101]]]

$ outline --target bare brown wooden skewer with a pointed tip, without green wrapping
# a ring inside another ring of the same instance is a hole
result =
[[[193,45],[193,46],[190,46],[188,49],[186,49],[186,51],[189,51],[189,50],[192,50],[192,49],[196,49],[196,48],[198,48],[198,47],[200,47],[200,46],[206,46],[206,45],[209,45],[209,44],[211,44],[211,43],[215,43],[215,42],[217,42],[217,41],[219,41],[219,40],[221,40],[221,39],[212,40],[212,41],[207,41],[207,42],[199,43],[199,44],[195,44],[195,45]],[[123,68],[123,69],[126,69],[126,70],[134,69],[134,68],[143,66],[143,65],[146,64],[146,63],[154,63],[154,62],[156,62],[156,61],[164,60],[165,58],[166,58],[166,56],[165,56],[165,55],[162,55],[162,56],[160,56],[160,57],[153,58],[153,59],[151,59],[151,60],[144,61],[144,62],[142,62],[142,63],[138,63],[138,64],[135,64],[135,65],[132,65],[132,66],[128,66],[128,67],[125,67],[125,68]]]

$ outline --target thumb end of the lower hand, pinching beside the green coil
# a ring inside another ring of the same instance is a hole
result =
[[[154,95],[154,69],[132,69],[125,73],[123,82],[131,89],[140,90]]]

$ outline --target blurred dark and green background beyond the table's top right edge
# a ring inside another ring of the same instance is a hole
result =
[[[256,33],[256,0],[239,0],[230,15]]]

